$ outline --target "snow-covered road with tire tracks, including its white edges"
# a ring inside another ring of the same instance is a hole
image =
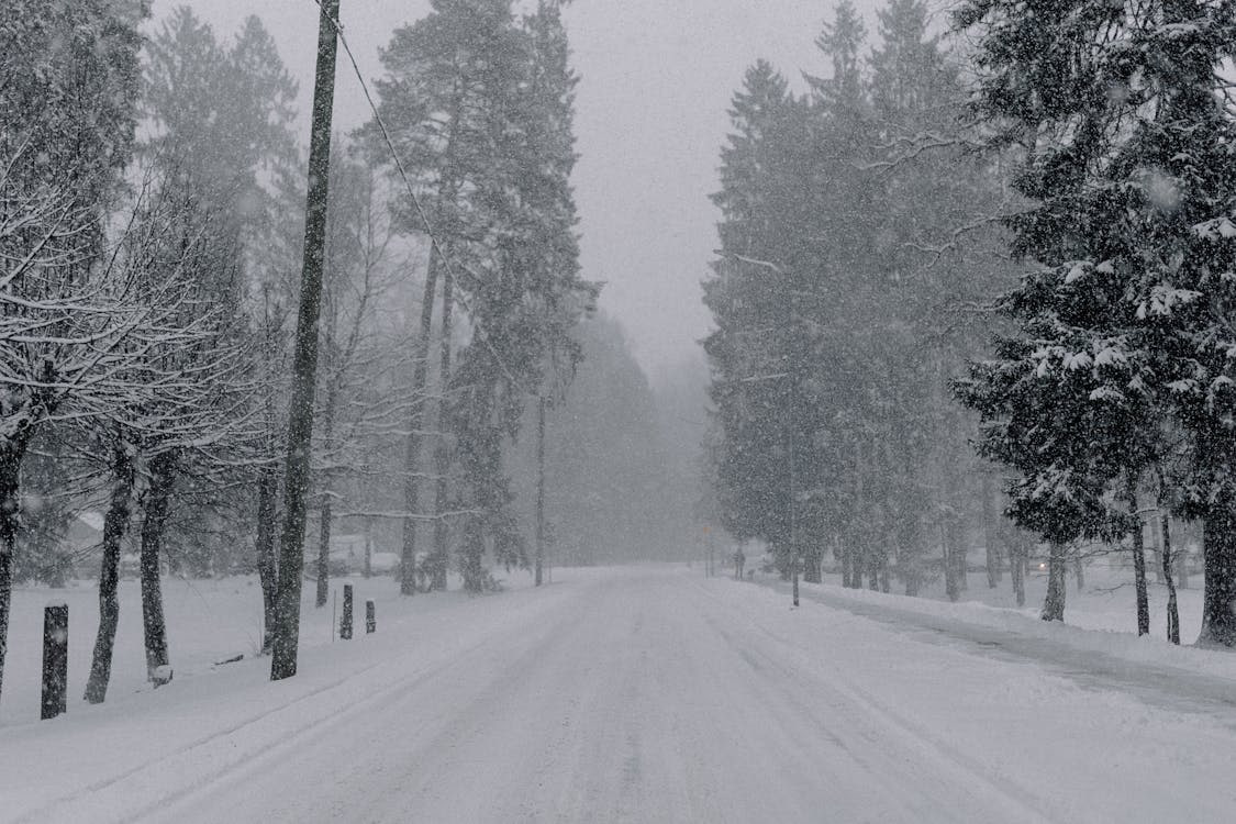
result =
[[[779,592],[698,571],[560,577],[455,602],[400,626],[407,641],[316,650],[289,682],[262,683],[255,667],[220,677],[236,682],[226,700],[168,688],[143,697],[162,703],[142,721],[132,707],[87,719],[94,760],[66,765],[68,786],[17,810],[177,823],[1236,815],[1236,710],[1174,697],[1163,672],[1107,687],[1077,661],[1072,677],[1049,644],[993,656],[939,642],[939,628],[918,637],[906,615],[790,610]],[[351,675],[323,675],[330,662]],[[185,714],[197,729],[177,740],[168,725]],[[0,744],[0,775],[33,775],[82,744],[73,724],[49,740],[36,729]]]

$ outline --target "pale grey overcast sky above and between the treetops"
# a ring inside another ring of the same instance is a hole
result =
[[[246,15],[261,16],[300,80],[308,128],[314,0],[156,0],[156,20],[180,5],[220,38]],[[687,357],[708,329],[700,280],[717,245],[708,194],[717,188],[730,95],[758,57],[791,79],[800,68],[826,73],[813,41],[832,7],[833,0],[576,0],[567,10],[582,78],[575,184],[583,267],[608,282],[601,305],[625,326],[645,368]],[[428,11],[429,0],[342,0],[345,33],[366,79],[379,75],[378,47],[392,30]],[[351,128],[367,116],[341,63],[335,122]]]

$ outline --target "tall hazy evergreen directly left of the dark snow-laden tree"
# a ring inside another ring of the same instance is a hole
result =
[[[981,327],[959,308],[985,301],[1002,272],[991,259],[986,269],[975,266],[994,257],[984,254],[990,231],[946,238],[995,210],[999,179],[989,158],[962,147],[959,69],[927,21],[926,4],[892,0],[879,11],[880,44],[870,58],[878,146],[870,174],[880,180],[883,206],[874,227],[874,335],[864,347],[876,376],[868,463],[886,494],[869,523],[873,540],[894,549],[910,594],[926,574],[926,547],[941,536],[946,591],[955,599],[965,581],[962,531],[973,519],[967,499],[981,489],[968,466],[970,423],[949,403],[947,384],[954,364],[979,346]]]

